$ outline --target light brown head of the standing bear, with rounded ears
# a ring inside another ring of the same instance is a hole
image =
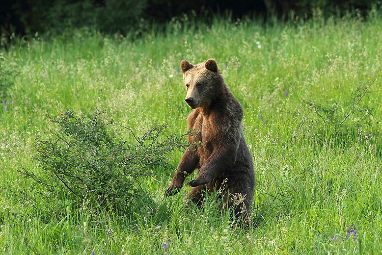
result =
[[[190,108],[207,107],[223,92],[224,81],[215,60],[209,59],[195,66],[183,60],[180,67],[187,88],[185,101]]]

